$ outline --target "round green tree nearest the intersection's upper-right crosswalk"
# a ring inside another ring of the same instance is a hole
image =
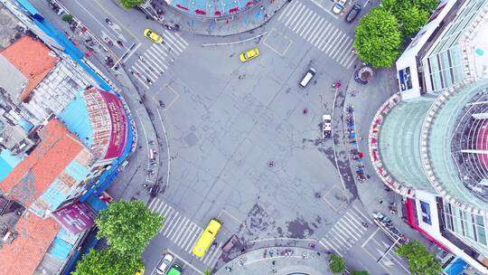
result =
[[[390,67],[399,57],[400,47],[397,18],[384,8],[371,9],[356,26],[354,48],[361,60],[373,67]]]

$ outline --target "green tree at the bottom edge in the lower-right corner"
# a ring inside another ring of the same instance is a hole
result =
[[[434,254],[427,251],[426,247],[417,240],[400,245],[396,252],[407,259],[408,268],[414,275],[442,274],[440,262],[436,261]]]

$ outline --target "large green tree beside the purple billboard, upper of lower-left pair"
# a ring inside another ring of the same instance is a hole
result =
[[[117,201],[99,213],[95,223],[97,237],[108,240],[110,248],[121,255],[137,256],[162,227],[164,218],[147,209],[142,201]]]

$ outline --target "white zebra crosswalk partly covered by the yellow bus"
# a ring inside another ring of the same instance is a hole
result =
[[[211,247],[202,259],[197,258],[192,254],[192,247],[203,232],[203,228],[193,223],[190,219],[176,211],[171,205],[164,203],[159,198],[155,198],[148,205],[148,208],[165,218],[164,226],[159,231],[160,234],[163,234],[166,239],[173,242],[182,251],[189,253],[195,259],[201,260],[205,266],[210,269],[213,268],[221,257],[222,242],[219,242],[217,246]]]

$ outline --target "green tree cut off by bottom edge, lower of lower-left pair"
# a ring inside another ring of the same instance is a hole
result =
[[[110,248],[90,250],[76,264],[71,275],[134,275],[136,270],[144,266],[140,257],[123,257]]]

